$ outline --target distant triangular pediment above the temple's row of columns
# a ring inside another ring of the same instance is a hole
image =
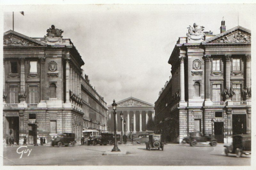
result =
[[[144,102],[142,100],[129,97],[116,103],[117,107],[141,107],[141,106],[154,106],[153,104]]]

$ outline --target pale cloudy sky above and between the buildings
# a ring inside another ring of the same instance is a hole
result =
[[[179,36],[196,23],[220,34],[238,25],[252,29],[255,4],[20,5],[4,8],[3,31],[29,37],[64,31],[84,60],[84,72],[108,105],[128,97],[154,104],[171,75],[168,59]],[[24,16],[20,14],[24,11]]]

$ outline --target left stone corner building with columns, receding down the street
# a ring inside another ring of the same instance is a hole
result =
[[[26,135],[34,144],[69,132],[79,140],[85,128],[105,130],[107,104],[83,77],[84,61],[62,33],[53,25],[42,38],[4,33],[5,139],[22,143]]]

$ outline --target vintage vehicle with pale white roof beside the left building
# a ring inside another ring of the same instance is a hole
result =
[[[86,129],[83,130],[83,144],[86,145],[96,145],[97,140],[100,138],[99,131],[98,130],[92,130],[92,129]]]

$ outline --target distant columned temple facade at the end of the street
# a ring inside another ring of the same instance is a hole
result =
[[[142,133],[145,132],[146,125],[149,119],[154,119],[154,105],[148,102],[144,102],[140,99],[136,99],[134,97],[129,97],[119,102],[116,102],[116,131],[127,133]],[[121,122],[120,112],[123,112],[123,121]],[[112,105],[108,106],[108,119],[113,122],[113,108]],[[126,127],[124,129],[124,120],[126,121]],[[108,127],[113,128],[113,125],[108,125]]]

